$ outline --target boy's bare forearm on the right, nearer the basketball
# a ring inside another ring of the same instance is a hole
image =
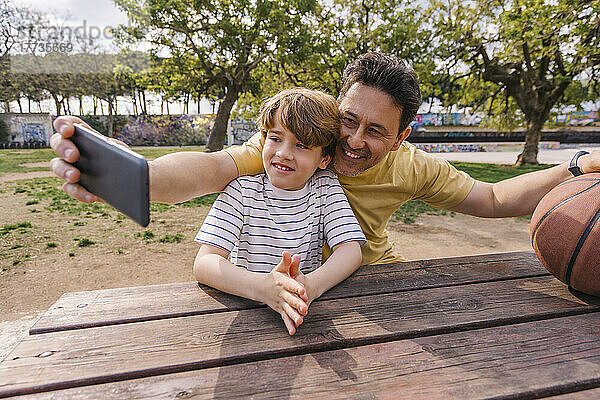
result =
[[[320,267],[306,275],[306,290],[309,302],[348,278],[360,267],[362,254],[358,242],[347,242],[336,246],[331,256]]]

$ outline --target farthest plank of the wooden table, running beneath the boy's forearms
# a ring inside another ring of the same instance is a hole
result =
[[[544,276],[533,252],[363,266],[319,300]],[[63,295],[30,334],[262,307],[195,282]]]

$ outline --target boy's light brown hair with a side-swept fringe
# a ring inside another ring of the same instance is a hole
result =
[[[267,99],[257,123],[264,136],[275,125],[280,111],[281,124],[310,147],[322,147],[323,155],[333,156],[340,134],[340,119],[333,96],[306,88],[286,89]]]

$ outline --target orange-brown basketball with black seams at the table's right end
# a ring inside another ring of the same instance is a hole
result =
[[[531,245],[555,277],[600,296],[600,173],[573,177],[552,189],[531,218]]]

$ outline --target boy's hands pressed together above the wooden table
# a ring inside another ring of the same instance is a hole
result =
[[[289,334],[293,335],[314,300],[306,276],[300,271],[300,256],[292,257],[284,251],[281,262],[266,275],[264,303],[281,315]]]

